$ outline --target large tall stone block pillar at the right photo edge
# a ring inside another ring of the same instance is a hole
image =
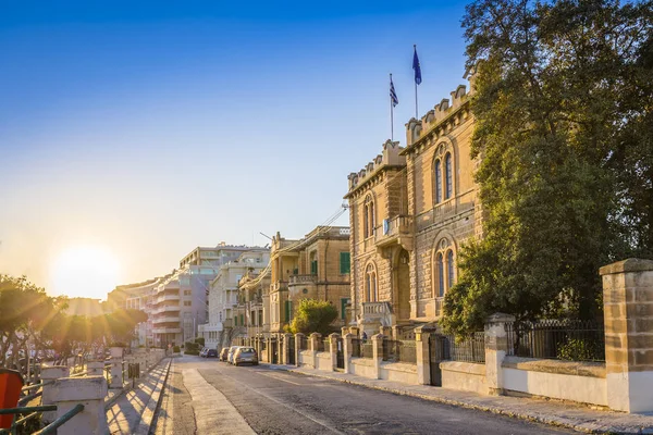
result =
[[[601,268],[607,405],[653,411],[653,261],[628,259]]]

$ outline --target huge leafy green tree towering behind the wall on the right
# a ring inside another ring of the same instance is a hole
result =
[[[652,5],[467,7],[484,238],[459,253],[445,330],[478,331],[496,311],[592,319],[597,269],[651,254]]]

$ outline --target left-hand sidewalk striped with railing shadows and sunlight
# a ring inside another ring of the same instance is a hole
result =
[[[135,388],[128,384],[122,394],[106,400],[110,434],[148,434],[171,362],[172,358],[164,358]]]

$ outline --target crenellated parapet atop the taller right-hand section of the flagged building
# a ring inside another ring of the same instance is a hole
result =
[[[473,78],[476,67],[469,69],[464,78],[469,80],[470,90],[467,92],[465,85],[458,85],[451,92],[451,99],[443,98],[433,109],[427,112],[421,120],[415,117],[406,123],[406,153],[416,142],[428,135],[446,134],[460,122],[466,120],[469,113],[469,97],[473,94]]]

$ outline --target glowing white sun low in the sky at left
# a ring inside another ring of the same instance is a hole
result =
[[[50,271],[51,293],[104,299],[119,283],[120,262],[110,250],[95,246],[62,251]]]

